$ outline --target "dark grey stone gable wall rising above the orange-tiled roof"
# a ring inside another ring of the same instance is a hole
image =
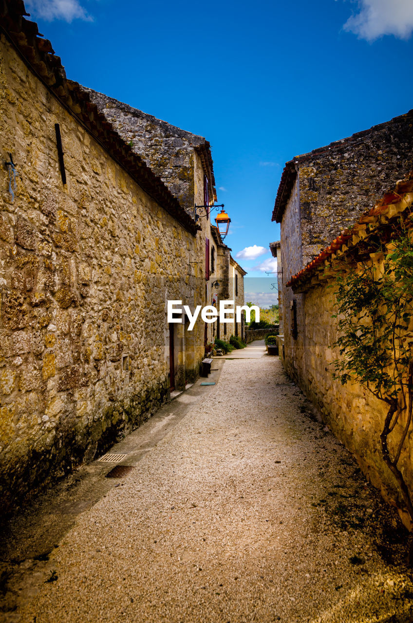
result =
[[[413,110],[294,158],[303,240],[300,268],[413,169],[412,143]]]

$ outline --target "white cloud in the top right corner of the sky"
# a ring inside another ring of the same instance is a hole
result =
[[[413,31],[412,0],[358,0],[359,12],[347,19],[344,30],[373,41],[383,35],[409,39]]]

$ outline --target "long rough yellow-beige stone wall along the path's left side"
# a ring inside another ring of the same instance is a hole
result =
[[[205,298],[196,239],[57,102],[1,38],[2,510],[94,457],[168,393],[167,298]],[[61,126],[67,184],[57,161]],[[190,275],[194,275],[191,277]],[[194,338],[192,338],[194,339]],[[192,345],[189,374],[202,346]]]

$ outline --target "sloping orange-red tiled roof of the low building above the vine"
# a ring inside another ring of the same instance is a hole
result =
[[[401,191],[401,193],[397,192]],[[406,191],[406,192],[403,192]],[[363,214],[352,229],[346,229],[333,242],[326,247],[312,262],[306,265],[286,283],[294,291],[299,288],[309,287],[310,282],[318,282],[328,277],[326,269],[329,264],[343,255],[363,239],[368,239],[369,234],[377,231],[379,226],[386,226],[404,212],[413,203],[413,171],[409,176],[396,184],[392,193],[387,193],[370,210]],[[367,240],[366,240],[367,241]]]

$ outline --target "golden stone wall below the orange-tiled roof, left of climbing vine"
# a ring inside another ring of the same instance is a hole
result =
[[[381,490],[392,505],[402,506],[398,498],[396,480],[381,458],[380,434],[387,408],[357,383],[342,385],[333,379],[333,361],[339,358],[334,342],[338,337],[337,319],[333,318],[334,288],[331,280],[303,294],[305,323],[300,321],[296,341],[295,366],[299,386],[318,408],[324,421],[347,449],[357,458],[362,471],[372,484]],[[404,417],[391,434],[391,449],[400,439]],[[399,464],[407,484],[413,490],[413,440],[409,437],[407,449]],[[409,518],[401,512],[406,526]]]

